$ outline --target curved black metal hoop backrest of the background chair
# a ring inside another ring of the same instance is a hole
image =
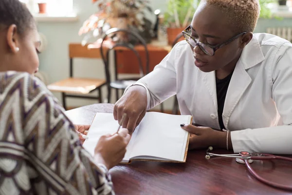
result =
[[[143,68],[143,63],[142,63],[142,59],[140,57],[139,52],[137,51],[136,47],[129,43],[129,42],[117,42],[117,43],[113,43],[110,48],[107,48],[108,50],[105,52],[105,48],[104,48],[104,41],[109,38],[111,35],[117,34],[117,33],[123,33],[125,34],[125,36],[131,36],[131,38],[134,38],[135,40],[137,40],[137,42],[140,44],[138,47],[142,47],[143,50],[145,51],[145,55],[146,55],[146,70],[144,70]],[[110,82],[110,71],[109,71],[109,54],[111,50],[122,50],[122,49],[126,49],[126,50],[130,50],[134,53],[134,55],[136,56],[136,58],[138,59],[138,65],[139,65],[139,73],[140,76],[143,77],[146,74],[149,73],[149,52],[147,49],[147,44],[145,42],[145,40],[138,35],[135,32],[129,31],[127,29],[120,29],[120,28],[111,28],[110,30],[108,30],[105,33],[105,36],[102,39],[101,45],[100,45],[100,55],[103,59],[104,65],[105,65],[105,70],[106,70],[106,75],[107,78],[109,79]],[[129,59],[131,60],[131,59]],[[115,78],[117,78],[117,67],[115,68]]]

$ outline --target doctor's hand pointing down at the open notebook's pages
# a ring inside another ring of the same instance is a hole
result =
[[[122,98],[114,105],[113,117],[118,120],[119,124],[124,113],[127,114],[123,128],[127,128],[131,135],[146,114],[147,109],[147,92],[140,85],[134,85],[128,88]]]

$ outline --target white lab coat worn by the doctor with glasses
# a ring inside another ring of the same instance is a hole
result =
[[[215,71],[194,65],[186,41],[136,84],[147,90],[147,109],[176,94],[182,115],[220,129]],[[235,153],[292,154],[292,43],[254,34],[237,62],[222,117]]]

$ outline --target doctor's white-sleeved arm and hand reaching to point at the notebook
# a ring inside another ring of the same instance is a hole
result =
[[[170,53],[145,77],[130,85],[114,106],[114,118],[119,122],[124,113],[123,127],[133,131],[147,110],[176,94],[176,60],[178,43]]]

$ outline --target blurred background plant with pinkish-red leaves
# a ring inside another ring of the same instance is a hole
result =
[[[146,15],[154,14],[148,0],[92,0],[97,5],[97,13],[83,23],[79,36],[84,35],[82,44],[90,38],[100,39],[110,28],[117,27],[135,31],[146,42],[153,37],[153,24]],[[123,33],[114,35],[112,41],[129,41]]]

